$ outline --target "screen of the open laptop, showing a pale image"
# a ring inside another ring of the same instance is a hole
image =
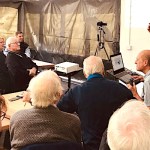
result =
[[[124,64],[121,53],[110,56],[114,74],[124,71]]]

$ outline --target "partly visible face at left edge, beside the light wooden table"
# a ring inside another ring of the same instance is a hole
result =
[[[7,106],[5,103],[5,99],[2,95],[0,95],[0,115],[1,115],[1,119],[0,119],[0,131],[1,131],[1,127],[2,127],[2,120],[5,118],[5,113],[7,111]]]

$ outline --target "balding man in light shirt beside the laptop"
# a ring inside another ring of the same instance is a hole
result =
[[[140,96],[138,94],[135,84],[133,86],[129,84],[128,88],[137,100],[144,101],[150,108],[150,50],[141,51],[136,58],[135,64],[136,70],[145,74],[144,77],[133,76],[133,78],[140,79],[141,82],[144,82],[142,95]]]

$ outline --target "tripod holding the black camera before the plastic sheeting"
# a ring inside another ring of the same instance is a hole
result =
[[[99,26],[98,27],[99,29],[99,33],[97,34],[97,41],[98,41],[98,46],[96,48],[96,51],[95,51],[95,56],[98,54],[98,50],[101,50],[101,49],[104,49],[105,53],[106,53],[106,56],[109,60],[109,56],[108,56],[108,53],[105,49],[105,45],[104,45],[104,35],[105,35],[105,31],[104,29],[102,28],[102,26]]]

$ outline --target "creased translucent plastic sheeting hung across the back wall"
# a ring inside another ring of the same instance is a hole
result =
[[[7,5],[0,1],[0,7]],[[18,28],[24,32],[25,41],[39,52],[89,56],[97,49],[97,55],[107,59],[97,41],[100,21],[107,23],[102,28],[108,55],[119,51],[120,0],[16,0],[9,2],[9,12],[1,14],[5,19],[10,14],[15,18],[7,24],[8,33],[3,34],[8,37]]]

